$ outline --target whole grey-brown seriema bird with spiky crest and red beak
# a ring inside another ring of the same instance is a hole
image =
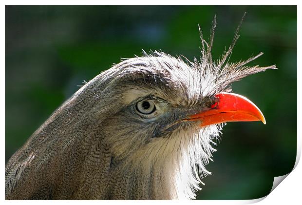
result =
[[[5,198],[194,199],[223,123],[265,124],[230,83],[276,68],[228,62],[240,25],[214,62],[215,22],[199,61],[144,53],[82,86],[6,164]]]

